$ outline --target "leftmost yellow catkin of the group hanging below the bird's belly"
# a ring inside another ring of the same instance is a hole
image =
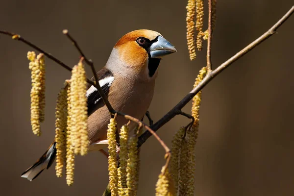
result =
[[[111,191],[111,196],[118,196],[118,163],[117,163],[117,153],[116,153],[116,131],[117,123],[115,119],[110,119],[107,130],[107,140],[108,140],[108,171],[109,171],[109,187]]]

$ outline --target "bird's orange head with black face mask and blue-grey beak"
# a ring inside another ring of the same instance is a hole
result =
[[[128,78],[151,80],[157,75],[161,58],[174,52],[177,50],[160,33],[135,30],[116,43],[106,67]]]

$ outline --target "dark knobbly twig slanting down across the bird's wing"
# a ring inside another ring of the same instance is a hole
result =
[[[93,63],[93,61],[92,61],[91,59],[88,59],[88,58],[85,56],[84,52],[83,52],[82,49],[78,46],[77,42],[73,39],[73,37],[69,34],[69,31],[68,31],[67,29],[64,29],[64,30],[62,31],[62,33],[65,34],[65,35],[67,36],[67,38],[69,38],[69,39],[72,41],[73,46],[78,50],[78,52],[80,53],[80,55],[81,55],[82,57],[84,57],[85,62],[91,67],[92,73],[93,73],[93,75],[94,75],[95,83],[96,83],[96,85],[94,85],[94,86],[97,88],[98,93],[100,94],[102,100],[104,101],[104,103],[105,103],[105,105],[106,105],[106,107],[107,107],[107,109],[108,109],[110,115],[113,117],[113,115],[115,114],[115,110],[112,108],[112,106],[111,106],[110,102],[108,101],[108,99],[107,99],[105,93],[103,92],[101,86],[99,85],[99,82],[98,82],[99,80],[98,80],[97,72],[96,72],[96,70],[95,70],[95,67],[94,67],[94,63]]]

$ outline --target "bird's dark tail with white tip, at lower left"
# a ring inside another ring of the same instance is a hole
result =
[[[22,173],[22,177],[32,181],[38,175],[43,172],[43,170],[48,169],[54,162],[56,157],[56,142],[54,141],[47,151],[39,158],[39,160],[29,167],[25,172]]]

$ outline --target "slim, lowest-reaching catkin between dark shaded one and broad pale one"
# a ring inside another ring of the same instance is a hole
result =
[[[71,94],[71,86],[68,87],[67,90],[67,104],[68,104],[68,116],[67,116],[67,131],[66,131],[66,183],[69,186],[73,185],[73,177],[74,177],[74,152],[73,152],[73,145],[71,140],[71,116],[73,114],[72,111],[72,104],[70,101],[70,94]]]

